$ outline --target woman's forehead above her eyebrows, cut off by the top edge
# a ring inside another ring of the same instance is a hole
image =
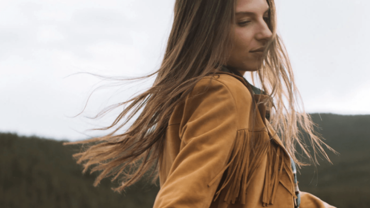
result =
[[[266,0],[236,0],[235,12],[264,13],[268,8]]]

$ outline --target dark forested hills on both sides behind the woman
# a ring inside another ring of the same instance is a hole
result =
[[[370,115],[312,114],[333,165],[305,167],[300,189],[338,208],[369,208]],[[71,155],[77,146],[61,141],[0,133],[0,208],[150,208],[158,187],[139,183],[123,194],[109,180],[95,188],[96,174],[82,175]]]

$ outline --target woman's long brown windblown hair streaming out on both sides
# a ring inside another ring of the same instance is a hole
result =
[[[258,72],[262,88],[276,101],[271,124],[281,135],[296,159],[295,143],[298,143],[310,158],[300,137],[298,126],[311,136],[312,146],[329,160],[322,149],[322,142],[314,134],[313,123],[306,113],[297,113],[292,70],[284,46],[276,34],[276,15],[273,0],[268,22],[273,38],[265,51],[264,64]],[[158,163],[163,153],[165,130],[169,117],[176,105],[192,90],[195,84],[207,75],[216,73],[226,65],[232,38],[236,0],[176,0],[174,21],[168,38],[161,67],[155,73],[140,77],[156,76],[155,82],[144,93],[108,107],[106,113],[116,107],[124,106],[115,121],[101,130],[112,129],[105,136],[66,144],[89,144],[89,147],[73,156],[77,163],[83,163],[83,172],[101,171],[94,186],[105,177],[118,179],[121,184],[116,191],[140,180],[145,173],[153,181],[158,177]],[[288,100],[286,107],[283,98]],[[122,127],[138,115],[125,132]],[[284,130],[284,131],[283,131]],[[288,131],[287,131],[288,130]],[[315,151],[316,152],[316,151]]]

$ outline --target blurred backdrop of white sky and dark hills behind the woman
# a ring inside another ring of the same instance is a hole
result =
[[[107,179],[94,188],[96,175],[82,175],[71,157],[79,147],[62,141],[102,135],[88,130],[117,111],[89,117],[150,86],[152,79],[121,85],[104,76],[160,66],[174,2],[0,0],[1,208],[152,206],[159,187],[143,181],[118,194]],[[340,153],[330,154],[332,165],[303,168],[299,186],[338,208],[368,208],[370,1],[276,3],[305,109]]]

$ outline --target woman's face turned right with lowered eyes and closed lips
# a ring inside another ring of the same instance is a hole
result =
[[[233,48],[227,65],[244,75],[257,71],[262,55],[272,33],[267,26],[268,4],[266,0],[236,0],[235,22],[232,22]]]

